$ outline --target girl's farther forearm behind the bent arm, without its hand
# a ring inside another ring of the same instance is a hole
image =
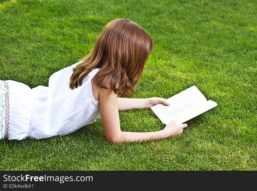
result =
[[[129,110],[129,109],[144,109],[148,108],[149,99],[148,98],[118,98],[118,109],[119,110]]]

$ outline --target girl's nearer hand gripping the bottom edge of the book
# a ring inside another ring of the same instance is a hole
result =
[[[166,135],[174,137],[177,135],[181,135],[184,128],[186,127],[187,127],[186,123],[181,124],[181,123],[176,123],[175,121],[171,121],[169,122],[168,125],[166,125],[163,131],[165,132]]]

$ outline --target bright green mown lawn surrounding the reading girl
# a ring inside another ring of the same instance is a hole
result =
[[[0,141],[1,170],[257,170],[256,1],[0,1],[0,79],[48,85],[85,56],[110,20],[151,35],[134,98],[196,85],[219,106],[180,137],[116,145],[100,119],[62,137]],[[123,131],[164,128],[150,110],[122,111]]]

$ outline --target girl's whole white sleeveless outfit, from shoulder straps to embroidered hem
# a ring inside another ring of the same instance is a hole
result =
[[[70,76],[80,62],[59,70],[49,78],[48,87],[29,86],[0,80],[0,138],[21,140],[67,135],[100,117],[99,101],[92,94],[93,69],[82,85],[71,90]]]

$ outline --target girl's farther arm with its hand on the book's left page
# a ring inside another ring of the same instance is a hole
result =
[[[164,98],[151,97],[142,99],[132,99],[132,98],[118,98],[118,109],[119,110],[129,110],[129,109],[144,109],[150,108],[158,103],[162,103],[168,106],[169,103],[165,101]]]

